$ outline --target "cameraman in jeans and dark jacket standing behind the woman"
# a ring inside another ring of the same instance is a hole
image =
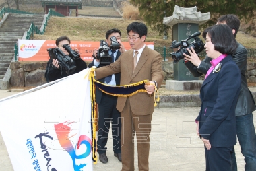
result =
[[[236,36],[240,21],[236,15],[228,14],[223,15],[218,18],[217,24],[227,24],[232,28],[234,36]],[[211,67],[210,57],[205,57],[203,61],[200,61],[199,57],[192,49],[191,56],[185,55],[184,61],[185,65],[194,75],[194,77],[199,77],[206,74],[208,69]],[[241,151],[243,156],[245,156],[245,170],[255,170],[256,168],[256,135],[255,127],[253,125],[253,114],[252,112],[256,109],[253,96],[248,89],[247,79],[245,77],[245,72],[247,70],[247,49],[238,43],[236,52],[232,54],[232,59],[238,65],[241,71],[241,90],[236,104],[236,130],[239,144],[241,146]],[[236,171],[236,155],[232,153],[232,170]]]

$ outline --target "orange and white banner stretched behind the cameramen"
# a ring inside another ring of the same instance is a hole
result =
[[[122,42],[126,50],[131,47],[129,42]],[[48,61],[50,59],[47,49],[55,48],[55,40],[18,40],[19,61]],[[146,45],[154,49],[154,42],[146,42]],[[80,57],[84,61],[92,61],[92,53],[99,48],[100,42],[71,41],[71,48],[79,49]]]

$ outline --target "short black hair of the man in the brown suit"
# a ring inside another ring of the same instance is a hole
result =
[[[129,24],[126,28],[127,30],[127,34],[129,34],[129,32],[134,32],[139,34],[139,37],[141,38],[142,36],[146,36],[147,37],[147,33],[148,33],[148,28],[145,24],[143,24],[142,22],[132,22],[131,24]]]

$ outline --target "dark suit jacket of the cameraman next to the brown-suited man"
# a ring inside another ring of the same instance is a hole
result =
[[[121,55],[121,52],[118,50],[115,61],[117,61],[117,59],[119,58],[120,55]],[[88,65],[89,68],[91,68],[92,66],[94,66],[94,60],[91,63],[89,63],[89,65]],[[99,67],[104,67],[104,66],[106,66],[106,65],[100,64],[100,65],[98,65],[98,68]],[[116,85],[117,86],[120,86],[120,76],[121,76],[120,73],[116,73],[115,74],[115,79],[116,79]],[[104,83],[105,82],[105,78],[99,79],[98,81],[100,81],[101,83]],[[100,104],[101,97],[102,97],[102,91],[100,89],[98,89],[98,87],[96,87],[95,96],[96,96],[95,97],[96,103]]]

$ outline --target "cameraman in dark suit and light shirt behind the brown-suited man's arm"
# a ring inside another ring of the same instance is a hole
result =
[[[113,55],[113,61],[116,61],[121,53],[125,52],[125,47],[121,43],[121,32],[120,30],[113,28],[106,32],[106,43],[108,47],[111,45],[110,38],[115,36],[117,42],[119,42],[120,49],[109,50],[108,54]],[[94,50],[96,52],[96,50]],[[96,54],[94,53],[94,56]],[[105,65],[100,64],[99,59],[94,59],[88,67],[103,67]],[[108,84],[110,86],[120,85],[120,73],[113,74],[110,77],[99,79],[98,81]],[[108,141],[108,131],[110,129],[110,123],[112,125],[112,137],[113,137],[113,151],[114,156],[121,162],[121,114],[117,110],[117,97],[105,94],[96,88],[96,103],[98,104],[98,140],[97,140],[97,151],[99,154],[100,162],[107,163],[108,157],[106,156],[106,143]]]

